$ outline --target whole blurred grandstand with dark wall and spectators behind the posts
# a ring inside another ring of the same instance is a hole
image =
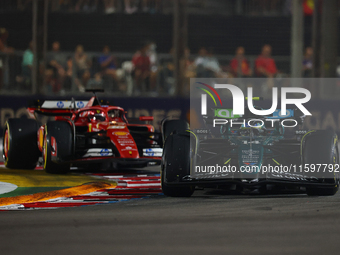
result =
[[[290,76],[291,0],[188,0],[187,5],[187,81]],[[49,47],[39,63],[39,93],[104,88],[127,96],[174,95],[173,1],[60,0],[48,8]],[[311,8],[305,0],[305,46],[311,45]],[[0,1],[2,94],[31,91],[31,9],[32,0]],[[266,44],[271,46],[261,54]],[[301,76],[311,77],[311,52],[307,47]]]

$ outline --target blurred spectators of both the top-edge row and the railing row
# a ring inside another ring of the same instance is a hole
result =
[[[2,1],[4,4],[6,1]],[[31,0],[7,1],[7,9],[17,8],[25,11],[31,8]],[[210,2],[210,1],[209,1]],[[211,1],[213,2],[213,1]],[[227,3],[229,1],[218,1]],[[231,1],[236,2],[236,1]],[[240,1],[243,5],[254,5],[252,13],[268,14],[289,13],[289,0],[248,0]],[[51,1],[51,11],[59,12],[101,12],[111,14],[124,12],[163,13],[171,1],[160,0],[60,0]],[[191,1],[188,1],[189,5]],[[306,15],[310,10],[310,1],[305,0]],[[208,1],[195,1],[195,6],[202,8]],[[211,3],[210,3],[211,4]],[[4,5],[5,6],[5,5]],[[193,6],[192,6],[193,7]],[[216,7],[216,6],[215,6]],[[243,8],[245,10],[245,8]],[[8,11],[8,10],[7,10]],[[310,13],[311,14],[311,13]],[[32,86],[32,64],[34,54],[32,42],[27,42],[25,51],[17,51],[7,45],[9,32],[0,28],[0,93],[29,92]],[[258,55],[247,55],[247,49],[235,48],[227,55],[215,55],[214,49],[203,45],[198,52],[186,48],[184,76],[189,84],[190,78],[230,78],[230,77],[289,77],[290,56],[273,57],[275,49],[269,44],[258,48]],[[103,88],[108,93],[122,95],[174,95],[174,50],[167,54],[157,53],[157,42],[143,41],[135,52],[119,53],[108,45],[96,52],[89,52],[79,42],[74,52],[64,51],[59,41],[48,47],[45,61],[39,63],[38,91],[47,95],[63,95],[69,92],[84,92],[89,88]],[[313,49],[306,47],[301,77],[312,77]],[[340,68],[338,68],[340,76]],[[188,92],[188,91],[187,91]]]

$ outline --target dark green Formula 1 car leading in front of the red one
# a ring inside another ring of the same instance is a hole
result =
[[[214,119],[220,117],[217,112],[214,109],[205,116],[206,129],[190,130],[182,120],[163,121],[165,195],[191,196],[195,187],[293,188],[308,195],[338,191],[339,151],[334,132],[293,129],[294,123],[303,124],[298,110],[289,110],[289,117],[259,117],[248,111],[242,119],[230,117],[213,127]],[[231,120],[243,124],[232,125]],[[290,138],[285,131],[291,133]]]

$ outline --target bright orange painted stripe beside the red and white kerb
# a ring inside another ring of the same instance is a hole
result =
[[[23,203],[35,203],[42,202],[50,199],[55,199],[59,197],[71,197],[88,194],[101,189],[113,189],[117,186],[117,183],[107,183],[107,182],[94,182],[89,184],[80,185],[73,188],[40,192],[32,195],[24,195],[17,197],[4,197],[0,198],[0,206],[13,205],[13,204],[23,204]]]

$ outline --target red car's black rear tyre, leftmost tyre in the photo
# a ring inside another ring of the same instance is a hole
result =
[[[4,128],[3,156],[8,168],[34,169],[39,159],[38,123],[33,119],[9,119]]]

